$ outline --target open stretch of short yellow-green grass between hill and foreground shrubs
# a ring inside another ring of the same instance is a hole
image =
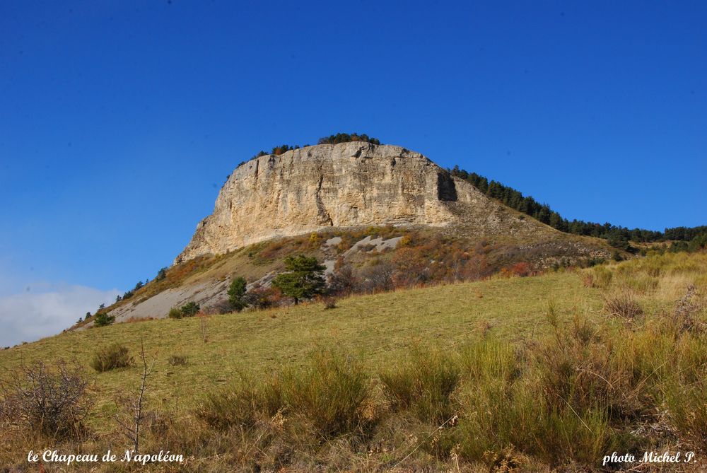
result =
[[[254,313],[214,315],[206,319],[208,341],[199,317],[119,324],[83,332],[66,332],[6,351],[0,366],[30,361],[76,358],[95,379],[98,402],[92,424],[112,429],[110,416],[117,392],[133,390],[138,366],[95,374],[88,362],[95,349],[116,341],[137,355],[141,337],[146,351],[157,354],[148,404],[189,415],[206,390],[230,383],[245,368],[269,370],[296,364],[317,346],[361,351],[371,366],[407,354],[409,346],[460,344],[478,336],[486,324],[501,337],[518,340],[547,329],[548,301],[563,317],[579,311],[595,315],[602,305],[596,289],[585,288],[576,274],[491,279],[466,284],[411,289],[339,301],[334,310],[322,304]],[[171,354],[185,354],[189,364],[170,366]]]

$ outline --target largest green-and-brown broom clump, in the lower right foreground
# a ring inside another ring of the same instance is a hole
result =
[[[595,465],[604,452],[631,448],[612,421],[622,426],[635,414],[636,385],[621,363],[612,365],[589,322],[562,329],[551,323],[555,337],[530,345],[525,359],[496,341],[462,353],[469,373],[460,392],[462,457],[484,461],[486,452],[510,446],[551,467],[560,458]]]

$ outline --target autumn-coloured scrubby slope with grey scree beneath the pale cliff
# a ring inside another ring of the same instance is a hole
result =
[[[333,228],[175,264],[164,279],[149,282],[107,310],[117,322],[161,318],[170,308],[193,300],[206,313],[218,313],[228,310],[226,291],[233,277],[245,277],[250,288],[268,287],[284,269],[283,259],[297,254],[317,257],[327,267],[327,276],[335,266],[350,267],[360,292],[474,281],[498,271],[529,275],[591,264],[610,255],[600,240],[559,232],[553,238],[498,235],[491,239],[471,235],[463,226]]]

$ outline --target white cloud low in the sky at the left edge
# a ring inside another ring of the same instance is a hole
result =
[[[117,289],[100,291],[86,286],[63,286],[44,293],[0,297],[0,346],[35,341],[58,334],[98,305],[115,301]]]

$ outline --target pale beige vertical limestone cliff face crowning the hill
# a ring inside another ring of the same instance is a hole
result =
[[[420,153],[364,142],[308,146],[236,168],[214,213],[199,223],[175,262],[332,226],[464,221],[492,230],[509,219],[515,230],[549,229],[519,221]]]

